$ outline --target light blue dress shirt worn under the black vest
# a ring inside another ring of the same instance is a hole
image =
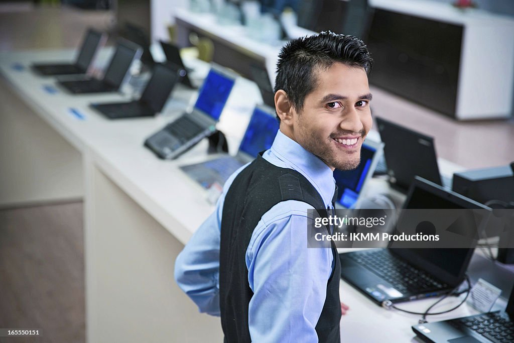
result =
[[[332,170],[280,131],[263,157],[271,164],[300,172],[332,208]],[[201,224],[175,262],[175,280],[200,312],[219,316],[219,240],[225,184],[215,211]],[[328,248],[307,248],[306,203],[273,206],[255,227],[246,250],[249,329],[254,342],[317,342],[316,323],[326,297],[334,258]]]

